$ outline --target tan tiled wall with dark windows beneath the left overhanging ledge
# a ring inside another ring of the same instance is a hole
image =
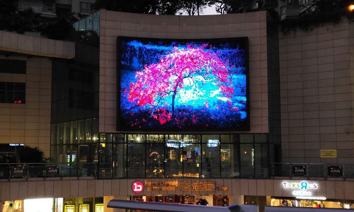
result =
[[[24,143],[49,156],[52,61],[2,55],[0,59],[26,60],[26,74],[0,73],[0,81],[26,83],[25,104],[0,103],[0,143]]]

